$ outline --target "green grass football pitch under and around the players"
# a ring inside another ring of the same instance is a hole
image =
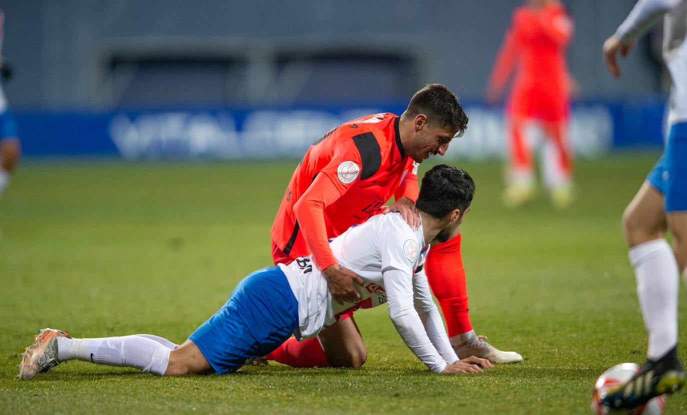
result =
[[[19,381],[19,353],[43,327],[183,342],[240,278],[271,264],[269,227],[297,163],[26,161],[0,199],[0,412],[590,413],[605,368],[644,360],[620,215],[655,158],[581,161],[565,212],[544,195],[506,210],[498,163],[443,160],[477,183],[462,225],[473,324],[520,364],[433,374],[378,307],[356,314],[369,349],[358,370],[271,364],[166,379],[72,361]],[[685,412],[687,392],[668,398],[666,414]]]

